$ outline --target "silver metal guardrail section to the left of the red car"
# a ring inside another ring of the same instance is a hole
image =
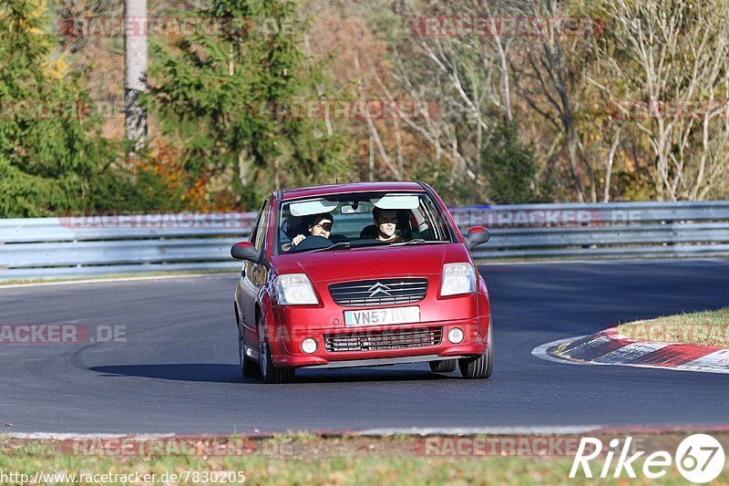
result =
[[[0,220],[0,281],[235,269],[254,212]]]

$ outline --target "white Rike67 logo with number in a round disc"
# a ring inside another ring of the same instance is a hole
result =
[[[602,464],[599,477],[605,479],[611,475],[613,478],[620,478],[623,471],[629,478],[637,478],[633,463],[645,454],[645,451],[638,451],[632,455],[632,438],[627,437],[621,444],[620,439],[612,439],[609,449],[605,454],[605,462]],[[602,441],[591,437],[580,440],[575,460],[572,462],[570,478],[574,478],[578,470],[586,478],[592,478],[590,460],[597,459],[602,453]],[[613,467],[613,459],[618,459]],[[714,481],[724,470],[724,448],[722,444],[710,435],[693,434],[683,439],[672,455],[666,450],[657,450],[645,457],[642,462],[642,475],[648,479],[656,480],[661,478],[672,467],[673,463],[687,481],[704,483]],[[637,466],[636,466],[637,469]],[[597,470],[596,470],[597,472]]]

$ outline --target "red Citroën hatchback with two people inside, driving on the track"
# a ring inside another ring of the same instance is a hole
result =
[[[293,381],[296,368],[429,362],[491,375],[486,283],[430,186],[370,182],[276,191],[263,202],[235,293],[244,377]]]

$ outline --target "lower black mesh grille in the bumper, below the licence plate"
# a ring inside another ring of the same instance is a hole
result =
[[[436,346],[442,339],[443,327],[393,329],[324,335],[324,347],[330,353],[376,351],[378,349]]]

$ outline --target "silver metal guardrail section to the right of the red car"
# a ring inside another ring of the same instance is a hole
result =
[[[477,260],[729,255],[729,202],[616,202],[459,208],[461,229],[488,227]]]

